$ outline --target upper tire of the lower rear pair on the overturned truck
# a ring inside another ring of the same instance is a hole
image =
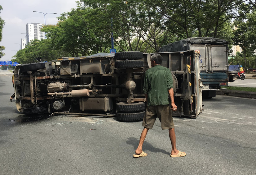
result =
[[[144,111],[145,110],[145,103],[138,102],[138,103],[126,103],[126,102],[119,102],[116,103],[116,110],[121,112],[136,112],[136,111]]]

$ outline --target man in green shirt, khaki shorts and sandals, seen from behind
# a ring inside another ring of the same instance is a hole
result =
[[[172,110],[176,111],[177,106],[173,97],[173,80],[170,69],[161,66],[163,57],[160,54],[154,54],[150,57],[152,68],[145,73],[143,91],[147,101],[147,110],[143,118],[140,142],[133,157],[145,157],[147,154],[142,151],[142,145],[149,129],[153,128],[156,118],[161,122],[161,128],[169,129],[169,137],[172,144],[171,157],[186,156],[185,152],[176,149],[176,137],[174,123],[172,119]],[[169,106],[168,94],[171,97],[171,107]]]

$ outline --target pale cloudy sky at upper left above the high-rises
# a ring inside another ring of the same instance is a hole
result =
[[[44,24],[44,15],[33,11],[40,11],[46,14],[46,24],[57,24],[57,17],[61,13],[71,11],[76,8],[77,0],[1,0],[0,5],[3,7],[0,17],[5,20],[3,29],[3,38],[1,46],[5,46],[5,56],[1,61],[10,61],[16,51],[20,49],[21,38],[25,38],[27,23]],[[13,51],[14,50],[14,51]],[[15,51],[16,50],[16,51]]]

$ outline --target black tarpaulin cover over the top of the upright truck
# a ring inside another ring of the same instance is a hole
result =
[[[228,42],[220,38],[210,37],[198,37],[198,38],[187,38],[168,45],[164,45],[158,49],[158,52],[181,52],[190,50],[191,44],[212,44],[212,45],[225,45],[228,49]]]

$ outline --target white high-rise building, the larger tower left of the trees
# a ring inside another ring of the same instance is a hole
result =
[[[45,39],[45,32],[41,31],[43,24],[31,23],[26,25],[26,45],[31,42],[31,40],[41,40]]]

